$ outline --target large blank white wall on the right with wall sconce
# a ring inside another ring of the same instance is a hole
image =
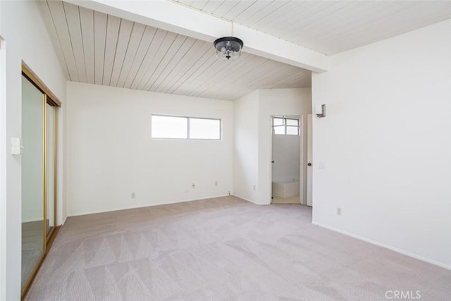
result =
[[[312,78],[313,222],[451,269],[451,20]],[[335,215],[336,207],[342,216]]]

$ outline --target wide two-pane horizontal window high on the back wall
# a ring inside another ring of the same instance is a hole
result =
[[[152,138],[221,140],[221,119],[152,115]]]

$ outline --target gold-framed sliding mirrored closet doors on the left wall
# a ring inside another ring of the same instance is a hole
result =
[[[22,70],[22,297],[56,231],[56,125],[60,102]]]

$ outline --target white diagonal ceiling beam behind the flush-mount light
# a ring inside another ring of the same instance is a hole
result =
[[[329,56],[172,1],[65,1],[206,42],[233,35],[242,39],[242,51],[249,54],[318,73],[329,70]]]

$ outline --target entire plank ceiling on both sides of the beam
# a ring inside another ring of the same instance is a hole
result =
[[[326,55],[451,18],[451,1],[171,1]],[[62,1],[38,5],[69,80],[230,100],[311,86],[302,68],[247,53],[221,61],[209,42]]]

